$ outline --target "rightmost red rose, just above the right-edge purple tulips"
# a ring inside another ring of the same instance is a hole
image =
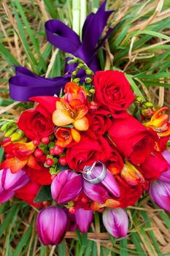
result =
[[[144,178],[151,181],[159,178],[161,174],[168,169],[169,165],[163,158],[161,152],[154,151],[147,159],[142,162],[140,168]]]

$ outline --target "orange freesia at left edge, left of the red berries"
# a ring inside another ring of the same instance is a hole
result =
[[[10,168],[12,173],[17,173],[25,165],[39,170],[39,165],[36,164],[32,153],[35,150],[34,144],[29,143],[10,143],[5,147],[7,159],[1,163],[2,168]]]

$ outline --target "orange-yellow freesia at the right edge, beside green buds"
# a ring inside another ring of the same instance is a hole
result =
[[[168,108],[160,108],[150,118],[150,121],[144,123],[147,128],[152,128],[160,137],[170,135],[169,126],[169,115],[163,113],[163,111],[168,110]]]

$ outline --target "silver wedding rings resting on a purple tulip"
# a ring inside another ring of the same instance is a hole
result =
[[[93,168],[96,167],[96,165],[101,164],[103,169],[101,170],[101,173],[98,175],[96,178],[90,178],[90,175],[93,174]],[[85,165],[83,172],[82,172],[82,177],[85,178],[85,181],[88,181],[90,184],[98,184],[101,181],[104,180],[104,178],[107,175],[107,167],[104,165],[104,163],[100,161],[96,161],[93,163],[93,165]]]

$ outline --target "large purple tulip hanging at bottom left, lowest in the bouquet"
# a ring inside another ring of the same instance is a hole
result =
[[[63,209],[55,206],[44,208],[39,211],[36,226],[42,244],[58,245],[61,243],[66,233],[66,213]]]

